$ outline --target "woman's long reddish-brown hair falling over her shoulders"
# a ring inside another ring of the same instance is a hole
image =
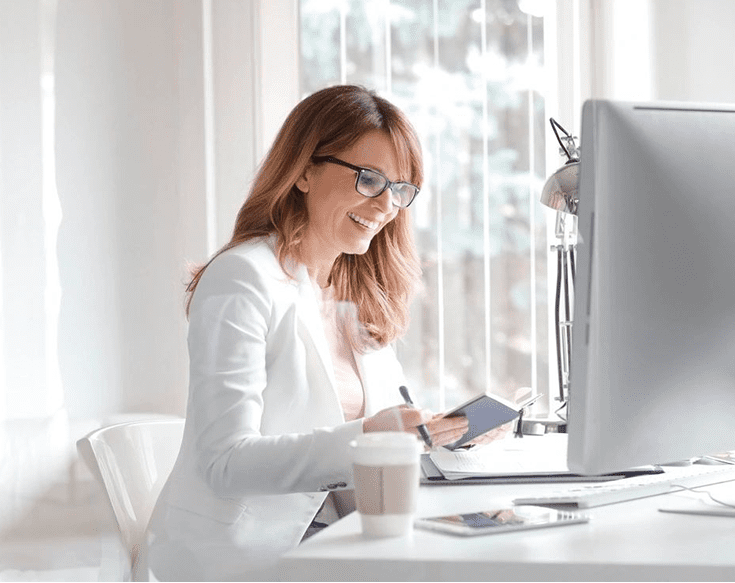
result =
[[[305,194],[296,187],[296,181],[313,156],[338,155],[373,130],[385,132],[393,143],[399,179],[421,187],[421,146],[396,106],[359,86],[322,89],[289,114],[237,214],[232,238],[212,259],[244,241],[275,234],[278,260],[288,273],[288,259],[301,261],[301,241],[309,220]],[[187,315],[207,265],[193,271],[187,287]],[[340,255],[329,280],[335,300],[356,306],[372,342],[385,345],[405,331],[410,298],[420,275],[410,217],[407,209],[401,209],[375,235],[367,253]],[[352,340],[360,349],[369,344]]]

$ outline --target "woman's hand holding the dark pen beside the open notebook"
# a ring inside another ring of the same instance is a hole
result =
[[[366,417],[362,422],[365,433],[373,431],[406,431],[418,435],[418,425],[426,425],[434,445],[454,443],[467,432],[465,417],[443,417],[433,415],[426,409],[414,409],[408,405],[389,407]]]

